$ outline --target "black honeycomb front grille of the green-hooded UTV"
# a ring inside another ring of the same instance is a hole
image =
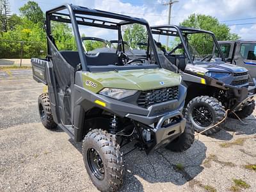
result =
[[[138,99],[138,106],[148,108],[154,104],[160,102],[166,102],[173,99],[178,99],[179,86],[173,86],[170,88],[161,88],[157,90],[149,90],[141,92]]]

